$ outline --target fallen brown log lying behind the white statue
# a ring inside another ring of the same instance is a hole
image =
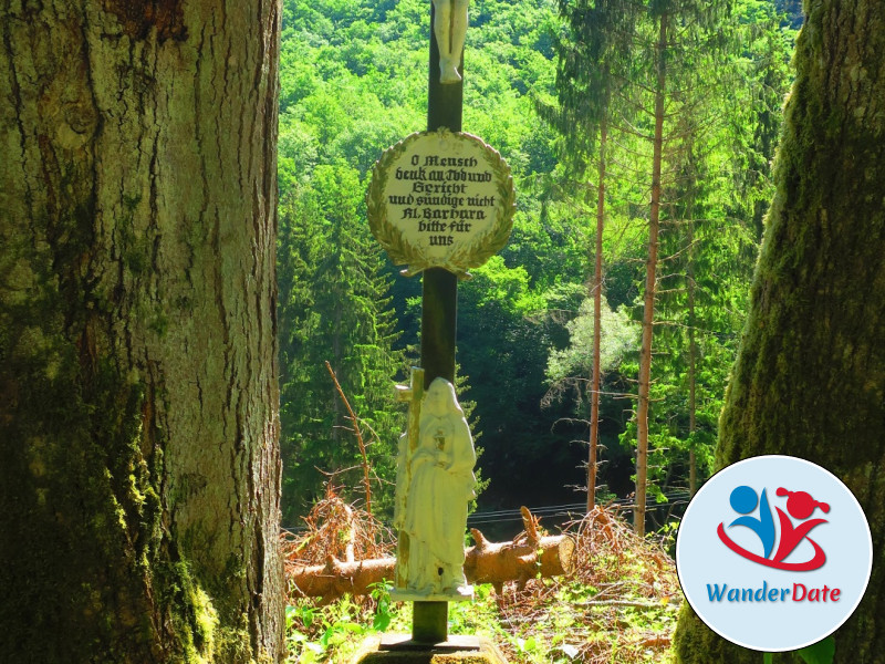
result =
[[[556,577],[572,570],[574,540],[563,535],[540,537],[537,520],[528,510],[523,521],[525,533],[510,542],[490,542],[479,530],[471,530],[477,544],[465,551],[464,564],[469,583],[491,583],[500,592],[506,581],[522,585],[539,575]],[[330,556],[324,566],[287,566],[287,575],[290,587],[302,595],[332,601],[345,593],[368,594],[375,583],[393,580],[395,566],[395,558],[342,562]]]

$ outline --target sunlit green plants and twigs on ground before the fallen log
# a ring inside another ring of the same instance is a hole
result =
[[[625,553],[634,559],[622,567],[627,575],[595,585],[577,578],[533,579],[522,590],[507,584],[500,595],[491,585],[477,585],[472,602],[449,604],[449,634],[486,636],[511,664],[671,663],[681,595],[671,593],[669,579],[649,585],[657,570]],[[287,663],[348,662],[368,639],[410,629],[410,603],[391,602],[387,588],[325,605],[301,599],[287,609]]]

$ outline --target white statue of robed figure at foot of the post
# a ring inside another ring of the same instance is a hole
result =
[[[471,595],[464,575],[467,506],[476,497],[473,439],[455,386],[438,377],[420,412],[417,448],[408,463],[404,530],[408,536],[406,592],[464,599]]]

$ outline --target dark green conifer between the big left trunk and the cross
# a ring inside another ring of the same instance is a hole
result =
[[[280,282],[283,510],[290,520],[322,495],[326,479],[348,495],[358,486],[358,447],[325,361],[373,440],[375,475],[389,483],[395,471],[403,423],[393,385],[403,353],[393,349],[389,282],[364,216],[358,176],[341,164],[319,166],[283,209],[281,262],[289,264],[281,273],[301,278]],[[375,504],[384,508],[391,485],[382,487]]]

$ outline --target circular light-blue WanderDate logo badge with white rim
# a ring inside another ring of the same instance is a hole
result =
[[[873,567],[861,506],[820,466],[789,456],[738,461],[691,499],[676,570],[695,613],[720,636],[763,652],[833,633],[857,608]]]

